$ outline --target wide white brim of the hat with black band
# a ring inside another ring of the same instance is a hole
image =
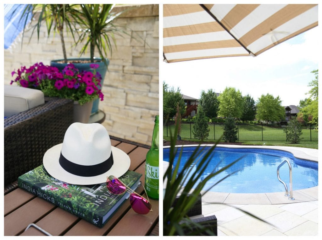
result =
[[[106,182],[106,178],[110,175],[120,177],[124,173],[126,173],[131,163],[130,157],[125,152],[112,146],[112,154],[114,160],[112,167],[103,174],[93,177],[83,177],[71,174],[62,168],[62,166],[59,164],[61,150],[62,143],[48,149],[43,156],[43,165],[46,171],[52,177],[70,184],[92,185]]]

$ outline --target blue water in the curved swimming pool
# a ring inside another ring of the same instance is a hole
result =
[[[203,151],[199,152],[198,156],[201,156],[209,148],[205,147]],[[194,150],[195,147],[184,147],[179,172],[183,171],[183,166]],[[164,161],[169,162],[169,151],[170,148],[163,149]],[[175,157],[174,165],[177,164],[179,152],[180,150]],[[212,187],[210,191],[231,193],[283,192],[285,188],[279,182],[276,172],[279,164],[286,159],[292,166],[293,191],[318,185],[317,162],[298,159],[286,151],[265,148],[216,147],[212,160],[201,178],[209,175],[213,169],[219,170],[240,157],[242,157],[241,160],[236,164],[208,181],[203,190],[209,189],[224,176],[239,170]],[[220,162],[220,160],[222,161]],[[194,164],[191,167],[195,168]],[[280,167],[279,175],[289,188],[289,166],[287,163]]]

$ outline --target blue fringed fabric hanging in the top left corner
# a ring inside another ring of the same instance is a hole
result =
[[[28,4],[5,4],[4,6],[5,49],[8,49],[11,46],[11,44],[14,42],[16,37],[19,35],[19,33],[23,31],[24,24],[22,24],[22,22],[24,22],[25,19],[21,20],[21,16],[24,13],[24,10],[27,6]],[[31,14],[27,16],[27,22],[30,22],[30,20],[31,20]]]

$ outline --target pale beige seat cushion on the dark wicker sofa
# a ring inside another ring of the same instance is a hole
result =
[[[45,103],[43,92],[36,89],[5,85],[5,117]]]

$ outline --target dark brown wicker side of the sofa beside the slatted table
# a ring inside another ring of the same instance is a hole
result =
[[[18,176],[43,162],[44,153],[62,143],[73,121],[73,102],[45,97],[45,103],[4,120],[5,192]]]

